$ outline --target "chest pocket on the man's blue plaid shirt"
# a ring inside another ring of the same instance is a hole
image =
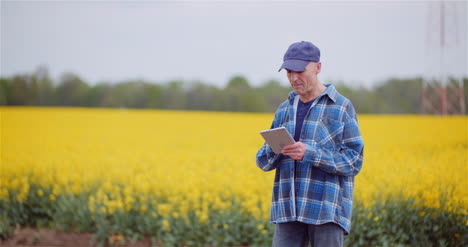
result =
[[[315,141],[319,146],[329,150],[339,150],[343,140],[344,124],[332,118],[321,118],[318,121]]]

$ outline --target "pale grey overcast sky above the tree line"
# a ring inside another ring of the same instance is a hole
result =
[[[54,79],[73,72],[90,84],[183,79],[224,86],[243,75],[252,85],[286,85],[278,72],[284,52],[307,40],[321,49],[322,82],[370,86],[427,72],[431,3],[1,1],[0,73],[44,65]],[[466,5],[458,3],[465,24],[457,64],[465,75]]]

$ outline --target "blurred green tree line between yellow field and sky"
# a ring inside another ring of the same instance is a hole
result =
[[[468,78],[463,81],[466,95]],[[418,114],[421,110],[422,78],[390,78],[372,88],[327,83],[349,98],[358,113]],[[276,80],[253,87],[241,75],[232,76],[225,87],[181,80],[90,85],[72,73],[63,74],[55,82],[46,68],[38,68],[32,73],[0,78],[0,105],[273,112],[290,91],[291,87]]]

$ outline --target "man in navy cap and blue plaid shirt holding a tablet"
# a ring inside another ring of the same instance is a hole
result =
[[[293,92],[277,109],[271,128],[284,126],[296,143],[275,154],[268,144],[257,166],[276,169],[271,205],[274,247],[333,247],[349,234],[354,176],[364,144],[351,102],[322,84],[320,50],[310,42],[289,46],[281,69]]]

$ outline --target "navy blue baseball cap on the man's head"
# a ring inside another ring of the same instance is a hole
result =
[[[289,46],[283,61],[283,65],[278,71],[282,69],[303,71],[310,62],[320,62],[320,50],[310,42],[297,42]]]

